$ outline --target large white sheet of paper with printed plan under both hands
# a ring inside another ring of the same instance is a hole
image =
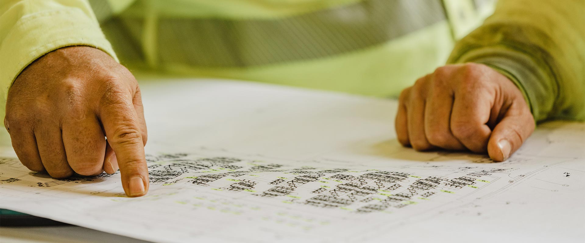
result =
[[[539,126],[510,160],[419,153],[393,100],[221,82],[144,82],[150,192],[52,179],[2,147],[0,207],[154,242],[575,242],[585,124]]]

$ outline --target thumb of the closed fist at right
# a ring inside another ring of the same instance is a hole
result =
[[[512,101],[504,118],[495,126],[487,143],[487,153],[494,161],[504,161],[522,146],[534,132],[535,122],[528,105],[522,100]]]

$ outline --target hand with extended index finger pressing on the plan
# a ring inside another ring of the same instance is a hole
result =
[[[66,47],[27,66],[9,90],[4,125],[32,171],[66,178],[119,167],[126,195],[148,191],[140,89],[105,52]]]

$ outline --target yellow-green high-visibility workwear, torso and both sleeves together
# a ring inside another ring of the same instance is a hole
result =
[[[507,75],[538,121],[583,119],[585,8],[560,2],[501,1],[480,26],[493,1],[2,1],[0,84],[6,94],[36,58],[89,45],[135,73],[385,97],[452,53],[448,62],[480,62]]]

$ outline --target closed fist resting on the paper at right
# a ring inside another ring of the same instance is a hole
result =
[[[510,79],[482,64],[447,65],[402,91],[398,141],[416,150],[471,150],[504,161],[534,131],[534,117]]]

